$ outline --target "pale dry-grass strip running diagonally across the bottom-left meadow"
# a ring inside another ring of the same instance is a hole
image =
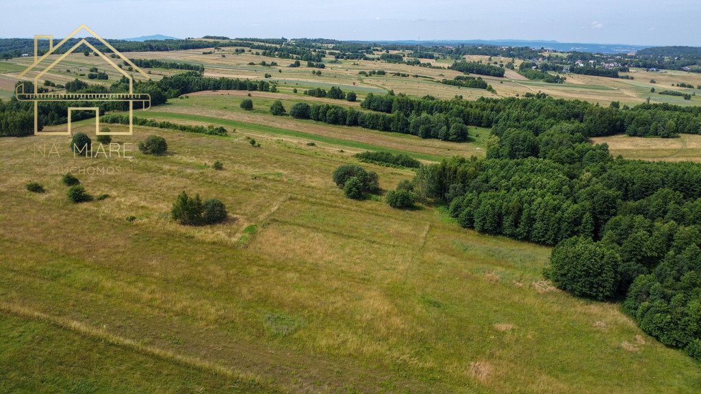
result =
[[[100,339],[102,341],[106,341],[108,344],[118,346],[120,348],[125,348],[130,351],[142,353],[144,355],[151,355],[157,358],[161,358],[163,360],[177,362],[178,364],[184,365],[186,367],[196,367],[198,369],[215,372],[217,374],[222,374],[224,376],[228,376],[229,378],[238,379],[240,381],[263,381],[263,379],[261,379],[261,376],[257,374],[252,374],[250,372],[242,372],[238,369],[224,367],[224,365],[221,365],[217,362],[210,362],[202,360],[200,358],[178,354],[173,351],[165,350],[163,348],[144,345],[133,339],[120,337],[118,335],[111,334],[106,330],[102,330],[97,327],[91,327],[90,325],[86,325],[85,323],[79,322],[78,320],[48,315],[46,313],[36,311],[26,306],[8,304],[7,302],[0,301],[0,311],[8,313],[10,315],[18,316],[20,318],[46,322],[50,325],[54,325],[55,327],[59,327],[64,330],[69,330],[83,337],[88,337],[89,339]]]

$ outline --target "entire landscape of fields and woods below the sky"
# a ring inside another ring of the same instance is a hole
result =
[[[0,393],[701,392],[700,73],[211,37],[0,60]]]

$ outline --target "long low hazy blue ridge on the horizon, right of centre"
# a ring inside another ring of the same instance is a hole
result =
[[[369,42],[369,41],[364,41]],[[628,45],[628,44],[608,44],[608,43],[561,43],[559,41],[530,41],[530,40],[431,40],[431,41],[372,41],[377,43],[401,43],[401,44],[423,44],[423,45],[450,45],[460,44],[474,45],[496,45],[496,46],[528,46],[531,48],[545,48],[560,50],[562,52],[591,52],[591,53],[631,53],[649,46]]]

